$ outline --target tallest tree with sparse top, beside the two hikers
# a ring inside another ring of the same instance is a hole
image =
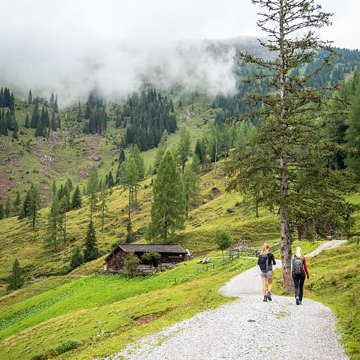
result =
[[[268,59],[248,53],[240,56],[242,61],[262,69],[247,81],[266,81],[268,92],[248,94],[247,100],[262,104],[251,116],[262,116],[263,124],[253,140],[234,152],[227,162],[230,178],[227,189],[247,193],[260,179],[263,203],[280,217],[282,273],[285,289],[291,292],[294,228],[301,224],[304,231],[333,232],[336,227],[327,229],[331,213],[338,220],[336,225],[344,229],[353,210],[343,197],[349,191],[344,174],[324,166],[336,146],[319,137],[326,121],[328,89],[308,85],[336,56],[330,42],[320,40],[316,34],[318,29],[330,25],[332,14],[321,11],[313,0],[252,2],[261,8],[257,23],[268,37],[260,40],[260,44],[270,56]],[[295,71],[316,59],[321,64],[310,73]],[[333,211],[335,208],[341,211]]]

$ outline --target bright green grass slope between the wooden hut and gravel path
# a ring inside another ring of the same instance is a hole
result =
[[[219,287],[254,263],[240,258],[196,276],[193,260],[145,279],[92,275],[64,284],[1,311],[0,333],[6,339],[0,344],[0,359],[9,354],[30,359],[68,340],[83,342],[66,353],[71,359],[112,354],[137,337],[232,301]],[[154,314],[150,322],[138,323],[148,314]],[[99,328],[104,336],[96,340]]]

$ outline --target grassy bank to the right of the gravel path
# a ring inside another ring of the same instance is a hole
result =
[[[344,244],[308,258],[310,282],[305,281],[304,298],[320,301],[332,308],[342,334],[346,352],[352,360],[360,359],[360,245]],[[281,270],[275,270],[272,291],[286,295],[277,284]]]

